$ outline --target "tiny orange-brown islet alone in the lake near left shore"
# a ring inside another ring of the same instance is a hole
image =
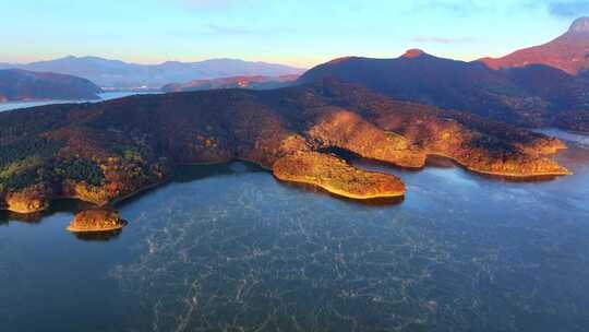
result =
[[[94,233],[119,230],[127,226],[119,213],[108,209],[86,210],[75,215],[68,226],[72,233]]]

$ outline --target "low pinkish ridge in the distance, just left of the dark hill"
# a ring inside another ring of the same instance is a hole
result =
[[[269,90],[292,85],[298,75],[273,76],[232,76],[213,80],[194,80],[188,83],[168,84],[161,87],[164,92],[188,92],[215,88],[251,88]]]

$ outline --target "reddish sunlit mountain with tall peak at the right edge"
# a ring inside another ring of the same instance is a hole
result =
[[[545,64],[577,74],[589,69],[589,17],[576,20],[568,32],[548,44],[481,61],[493,69]]]

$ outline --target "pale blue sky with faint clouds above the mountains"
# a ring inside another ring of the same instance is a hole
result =
[[[588,0],[0,0],[0,62],[68,55],[309,68],[408,48],[471,60],[550,40]]]

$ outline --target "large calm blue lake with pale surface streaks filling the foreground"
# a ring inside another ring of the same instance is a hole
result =
[[[240,163],[120,206],[0,226],[0,331],[588,331],[589,145],[574,176],[504,182],[442,163],[365,205]],[[71,205],[71,204],[70,204]],[[70,206],[71,209],[72,206]]]

